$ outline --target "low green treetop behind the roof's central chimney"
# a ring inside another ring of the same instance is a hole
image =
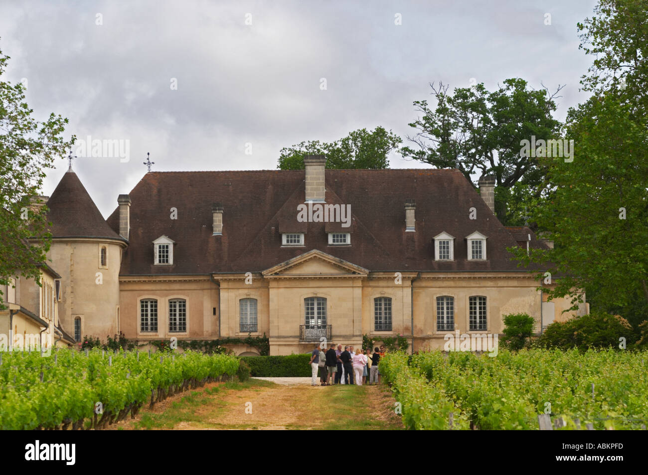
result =
[[[391,130],[387,132],[378,126],[373,132],[368,132],[363,128],[331,143],[315,140],[284,147],[277,168],[303,170],[305,155],[323,154],[327,156],[327,168],[378,170],[389,167],[389,152],[398,148],[401,142],[400,137]]]

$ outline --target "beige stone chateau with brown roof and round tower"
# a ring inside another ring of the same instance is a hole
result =
[[[419,351],[455,330],[498,334],[505,314],[538,332],[572,315],[507,251],[547,243],[500,223],[493,180],[478,193],[454,169],[308,156],[305,170],[148,172],[108,220],[70,170],[47,206],[58,315],[77,338],[266,334],[270,354],[290,354],[402,335]]]

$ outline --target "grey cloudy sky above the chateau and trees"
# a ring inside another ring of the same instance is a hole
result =
[[[407,141],[412,102],[439,80],[566,84],[564,119],[587,97],[579,79],[591,61],[576,23],[595,5],[3,0],[0,49],[11,59],[1,79],[26,84],[39,119],[67,117],[66,138],[128,143],[128,157],[73,163],[106,217],[145,174],[146,152],[159,171],[256,170],[276,168],[283,146],[358,128],[384,126]],[[390,164],[426,167],[398,154]],[[66,170],[58,160],[44,194]]]

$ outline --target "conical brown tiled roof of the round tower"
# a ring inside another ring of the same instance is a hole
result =
[[[100,237],[124,240],[108,226],[75,172],[68,171],[47,202],[52,237]]]

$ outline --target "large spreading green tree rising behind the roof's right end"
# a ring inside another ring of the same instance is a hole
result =
[[[505,224],[518,224],[522,195],[509,190],[520,183],[538,196],[546,186],[545,168],[536,157],[522,154],[520,143],[533,136],[557,138],[560,122],[551,114],[562,87],[550,94],[546,88],[529,89],[520,78],[507,79],[492,92],[483,83],[457,87],[452,94],[442,83],[430,86],[436,106],[414,102],[421,117],[411,122],[417,133],[408,140],[415,146],[402,147],[401,154],[438,168],[458,168],[468,180],[476,173],[494,175],[498,216]]]

